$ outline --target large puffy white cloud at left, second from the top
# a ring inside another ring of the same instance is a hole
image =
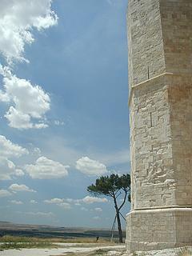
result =
[[[50,97],[40,86],[17,78],[7,67],[1,69],[4,92],[0,92],[0,101],[6,98],[10,108],[5,117],[9,126],[17,129],[42,129],[47,124],[44,115],[50,110]]]

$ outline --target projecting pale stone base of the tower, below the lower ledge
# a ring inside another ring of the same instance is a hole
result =
[[[191,243],[192,209],[133,210],[127,220],[126,244],[130,251],[162,250]]]

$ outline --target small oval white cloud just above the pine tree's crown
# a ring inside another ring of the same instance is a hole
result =
[[[88,157],[79,158],[76,168],[87,175],[102,175],[108,172],[105,165]]]

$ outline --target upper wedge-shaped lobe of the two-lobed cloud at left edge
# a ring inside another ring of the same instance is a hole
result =
[[[10,142],[5,136],[0,135],[0,155],[2,157],[20,157],[28,154],[28,150]]]

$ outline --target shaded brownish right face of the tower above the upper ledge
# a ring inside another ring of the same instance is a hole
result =
[[[166,72],[191,75],[192,2],[190,0],[159,2]]]

